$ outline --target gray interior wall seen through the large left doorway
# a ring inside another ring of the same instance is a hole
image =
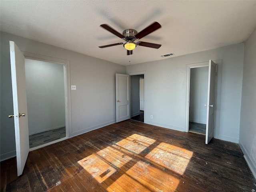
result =
[[[25,59],[29,134],[65,126],[62,64]]]

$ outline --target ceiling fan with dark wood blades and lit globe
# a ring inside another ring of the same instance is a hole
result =
[[[141,39],[142,37],[154,32],[155,30],[161,28],[161,25],[158,22],[152,23],[150,26],[146,27],[144,30],[141,32],[137,32],[134,29],[126,29],[123,31],[123,34],[120,34],[107,24],[102,24],[100,25],[102,28],[108,30],[112,34],[118,36],[119,38],[125,40],[125,42],[120,42],[120,43],[114,43],[114,44],[109,44],[109,45],[104,45],[104,46],[99,46],[99,48],[105,48],[105,47],[111,47],[111,46],[116,46],[116,45],[123,45],[124,48],[127,50],[127,55],[132,54],[132,50],[137,46],[144,46],[144,47],[150,47],[150,48],[155,48],[158,49],[161,47],[160,44],[154,44],[154,43],[148,43],[148,42],[142,42],[142,41],[137,41],[136,40]]]

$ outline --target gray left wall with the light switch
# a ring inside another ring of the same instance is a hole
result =
[[[13,113],[9,40],[14,41],[21,51],[70,61],[70,82],[76,85],[76,90],[71,91],[70,136],[116,122],[115,74],[125,74],[125,66],[5,32],[1,32],[0,38],[1,160],[15,156],[14,121],[8,118]]]

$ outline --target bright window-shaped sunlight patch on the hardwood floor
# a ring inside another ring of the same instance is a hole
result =
[[[170,188],[175,191],[190,162],[193,152],[152,138],[133,134],[80,161],[107,191],[118,188],[154,191]]]

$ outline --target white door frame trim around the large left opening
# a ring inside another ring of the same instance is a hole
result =
[[[52,62],[63,65],[64,69],[64,94],[65,94],[65,124],[66,124],[66,137],[34,147],[30,148],[30,151],[36,150],[38,148],[42,148],[44,146],[48,146],[50,144],[54,144],[69,138],[72,133],[72,123],[71,123],[71,96],[70,96],[70,61],[63,60],[60,58],[54,58],[49,56],[44,56],[40,54],[33,54],[29,52],[22,52],[26,59],[39,60],[44,62]]]

